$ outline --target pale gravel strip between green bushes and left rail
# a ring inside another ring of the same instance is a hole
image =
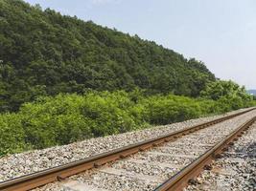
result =
[[[9,155],[0,159],[0,181],[10,180],[68,162],[95,156],[128,144],[136,143],[148,138],[155,138],[163,134],[175,132],[241,111],[242,110],[233,111],[228,114],[214,117],[201,117],[105,138],[90,138],[68,145]]]

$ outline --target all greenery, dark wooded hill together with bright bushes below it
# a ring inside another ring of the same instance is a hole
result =
[[[195,58],[0,0],[0,156],[254,105]]]

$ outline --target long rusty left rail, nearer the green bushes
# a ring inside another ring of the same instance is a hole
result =
[[[85,170],[103,165],[106,162],[114,161],[116,159],[123,159],[139,151],[144,151],[158,144],[170,141],[175,138],[180,138],[182,136],[196,132],[200,129],[211,126],[213,124],[220,123],[224,120],[241,116],[255,109],[256,108],[251,108],[237,114],[233,114],[226,117],[220,117],[209,122],[201,123],[199,125],[185,128],[183,130],[175,131],[173,133],[166,134],[158,138],[150,138],[150,139],[147,139],[135,144],[131,144],[119,149],[114,149],[112,151],[109,151],[94,157],[90,157],[87,159],[81,159],[78,161],[70,162],[67,164],[60,165],[58,167],[49,168],[43,171],[35,172],[33,174],[25,175],[12,180],[5,180],[0,182],[0,190],[25,191],[25,190],[33,189],[35,187],[45,185],[53,181],[63,180],[72,175],[79,174]]]

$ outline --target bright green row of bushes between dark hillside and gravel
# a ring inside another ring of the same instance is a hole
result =
[[[221,114],[253,104],[249,97],[212,100],[145,96],[139,90],[40,97],[23,104],[18,113],[0,115],[0,156]]]

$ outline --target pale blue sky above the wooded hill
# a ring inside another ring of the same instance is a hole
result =
[[[25,0],[195,57],[256,89],[255,0]]]

